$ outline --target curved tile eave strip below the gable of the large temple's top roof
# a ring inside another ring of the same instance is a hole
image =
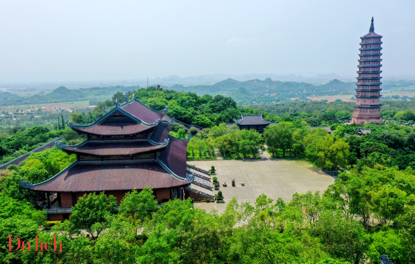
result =
[[[154,122],[154,120],[153,120]],[[73,130],[87,134],[95,134],[100,136],[115,136],[115,135],[132,135],[137,133],[146,132],[147,130],[154,129],[154,126],[147,126],[141,123],[126,120],[113,120],[96,124],[91,127],[72,127]]]

